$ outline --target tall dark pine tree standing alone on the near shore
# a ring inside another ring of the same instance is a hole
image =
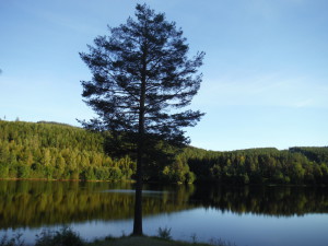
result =
[[[181,108],[199,90],[204,52],[188,58],[183,31],[145,4],[137,4],[136,19],[108,30],[108,36],[89,46],[90,52],[80,54],[93,74],[82,81],[82,96],[98,116],[82,124],[109,131],[113,148],[136,150],[133,234],[141,235],[144,160],[154,142],[188,143],[183,128],[194,127],[203,114]]]

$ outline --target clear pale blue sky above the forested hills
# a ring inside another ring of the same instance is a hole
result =
[[[93,117],[79,52],[138,2],[183,28],[190,56],[207,52],[191,105],[207,115],[187,129],[192,145],[328,145],[326,0],[1,0],[0,118],[79,126]]]

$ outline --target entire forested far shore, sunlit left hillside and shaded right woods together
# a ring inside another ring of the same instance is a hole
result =
[[[0,178],[131,179],[136,163],[114,159],[104,139],[81,128],[56,122],[0,120]],[[186,148],[174,163],[152,163],[150,181],[195,180],[234,184],[326,184],[328,148],[248,149],[231,152]]]

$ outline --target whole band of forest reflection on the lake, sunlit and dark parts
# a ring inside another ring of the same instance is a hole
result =
[[[327,188],[145,186],[143,215],[211,208],[237,214],[328,213]],[[0,230],[132,219],[133,185],[0,180]]]

